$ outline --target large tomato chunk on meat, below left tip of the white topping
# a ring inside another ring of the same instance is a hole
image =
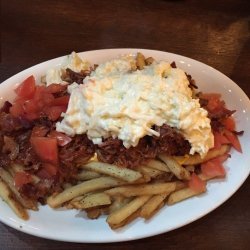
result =
[[[31,145],[37,156],[47,163],[57,165],[58,163],[58,148],[57,140],[48,137],[31,137]]]

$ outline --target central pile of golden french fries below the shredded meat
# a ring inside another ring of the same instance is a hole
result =
[[[79,166],[77,185],[65,185],[63,192],[47,199],[47,204],[52,208],[84,210],[91,219],[106,214],[112,229],[123,227],[138,217],[148,220],[165,204],[173,205],[199,195],[187,185],[191,173],[198,164],[223,155],[229,149],[228,145],[223,145],[210,150],[203,159],[199,155],[159,155],[158,159],[135,169],[101,163],[94,158]],[[202,174],[199,177],[209,180]]]

